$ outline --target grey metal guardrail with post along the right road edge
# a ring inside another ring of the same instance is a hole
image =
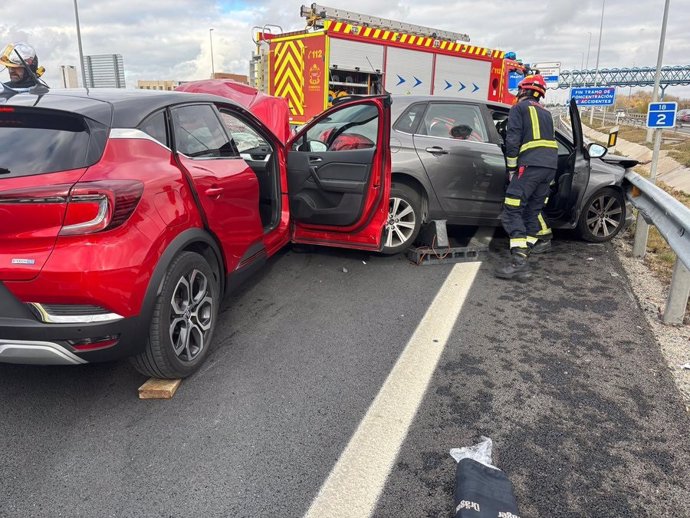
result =
[[[690,297],[690,209],[637,173],[626,173],[625,180],[630,203],[648,224],[657,228],[676,253],[663,321],[682,324]],[[644,245],[635,242],[633,246],[644,250]]]

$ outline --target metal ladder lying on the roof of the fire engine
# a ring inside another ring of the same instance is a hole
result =
[[[304,18],[307,19],[307,26],[315,29],[322,29],[323,22],[325,20],[331,20],[364,27],[374,27],[377,29],[404,32],[407,34],[413,34],[415,36],[428,36],[438,40],[448,40],[452,42],[470,41],[470,37],[467,34],[462,34],[459,32],[441,31],[438,29],[432,29],[431,27],[424,27],[423,25],[396,22],[395,20],[353,13],[352,11],[335,9],[333,7],[324,7],[318,4],[311,4],[311,7],[306,7],[303,5],[300,13]]]

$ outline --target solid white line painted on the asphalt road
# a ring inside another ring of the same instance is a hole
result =
[[[374,512],[480,266],[453,267],[305,518]]]

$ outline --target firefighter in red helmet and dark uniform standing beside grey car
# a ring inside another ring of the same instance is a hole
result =
[[[501,220],[510,237],[511,257],[496,270],[496,276],[503,279],[524,281],[530,277],[527,258],[544,233],[541,210],[558,165],[553,119],[539,102],[545,95],[542,76],[525,76],[508,115],[505,144],[510,184]]]

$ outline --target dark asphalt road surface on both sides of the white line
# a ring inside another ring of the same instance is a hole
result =
[[[527,284],[496,260],[436,344],[372,515],[453,516],[448,450],[486,435],[523,518],[690,516],[690,419],[612,248],[559,240]],[[0,516],[303,516],[463,268],[286,251],[170,401],[138,400],[126,362],[0,365]]]

